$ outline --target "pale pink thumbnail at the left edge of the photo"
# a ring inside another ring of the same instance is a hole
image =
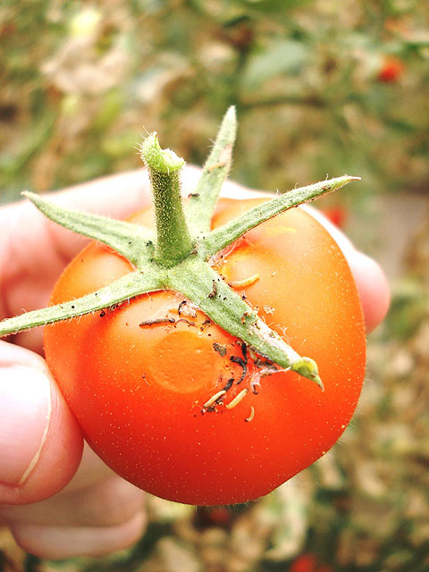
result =
[[[28,366],[0,369],[0,482],[27,480],[46,441],[50,416],[46,374]]]

